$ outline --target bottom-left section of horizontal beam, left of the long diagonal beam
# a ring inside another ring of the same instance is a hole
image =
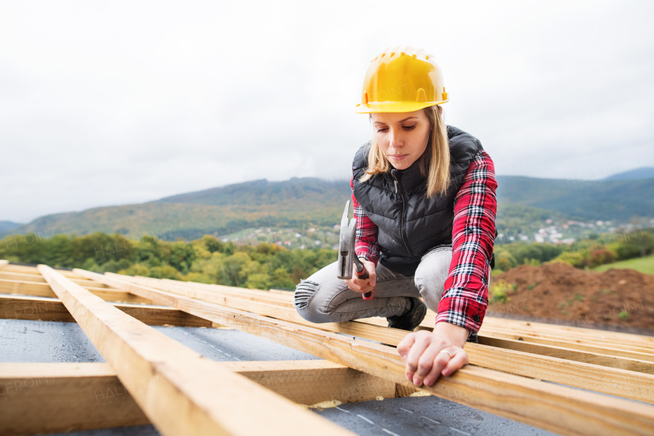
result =
[[[149,424],[107,363],[0,363],[0,434]]]

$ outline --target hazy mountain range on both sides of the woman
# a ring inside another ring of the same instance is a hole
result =
[[[580,221],[625,222],[654,217],[654,178],[577,181],[500,175],[498,224],[522,227],[549,215]],[[311,177],[271,182],[255,180],[188,192],[143,204],[93,208],[39,217],[0,229],[6,234],[118,232],[174,240],[216,236],[245,228],[311,227],[339,223],[350,198],[347,181]]]

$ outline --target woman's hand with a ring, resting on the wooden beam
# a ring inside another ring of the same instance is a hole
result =
[[[439,376],[449,376],[468,364],[463,349],[468,330],[458,325],[440,322],[434,331],[421,330],[409,333],[398,344],[404,361],[405,375],[415,386],[432,386]]]

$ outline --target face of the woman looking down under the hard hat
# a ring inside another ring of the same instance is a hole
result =
[[[424,109],[373,113],[372,125],[375,139],[393,168],[409,168],[427,148],[431,126]]]

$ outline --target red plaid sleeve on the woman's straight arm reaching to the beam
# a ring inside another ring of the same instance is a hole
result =
[[[473,158],[455,198],[453,257],[436,323],[477,333],[488,307],[489,261],[495,240],[495,167],[485,151]]]

